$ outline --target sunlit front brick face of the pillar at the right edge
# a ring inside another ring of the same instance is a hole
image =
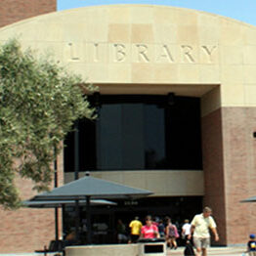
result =
[[[240,202],[256,195],[256,107],[224,107],[222,112],[228,242],[245,243],[256,231],[256,204]]]

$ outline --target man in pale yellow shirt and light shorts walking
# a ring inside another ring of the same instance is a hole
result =
[[[196,249],[195,256],[207,255],[206,249],[210,245],[209,230],[212,231],[215,241],[219,240],[217,226],[211,214],[212,209],[204,207],[202,213],[196,214],[192,219],[191,235],[188,235],[188,238],[191,239],[193,236],[193,245]]]

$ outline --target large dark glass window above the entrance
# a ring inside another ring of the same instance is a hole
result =
[[[199,99],[111,95],[100,104],[97,120],[78,121],[80,171],[202,168]],[[64,143],[64,171],[73,171],[73,132]]]

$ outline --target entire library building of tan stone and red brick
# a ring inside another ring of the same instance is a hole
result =
[[[21,3],[22,2],[22,3]],[[143,198],[92,207],[94,244],[117,242],[117,221],[170,216],[181,228],[204,206],[220,240],[256,233],[256,26],[157,5],[104,5],[57,12],[56,0],[2,0],[0,44],[51,53],[98,86],[96,120],[76,122],[58,156],[58,186],[87,171],[148,190]],[[23,200],[37,192],[17,179]],[[59,234],[75,226],[60,208]],[[86,208],[80,206],[81,233]],[[33,252],[55,239],[53,208],[0,209],[0,253]]]

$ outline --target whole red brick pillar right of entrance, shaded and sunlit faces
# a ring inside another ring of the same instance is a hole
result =
[[[204,204],[213,208],[221,244],[256,231],[256,107],[223,107],[202,117]]]

